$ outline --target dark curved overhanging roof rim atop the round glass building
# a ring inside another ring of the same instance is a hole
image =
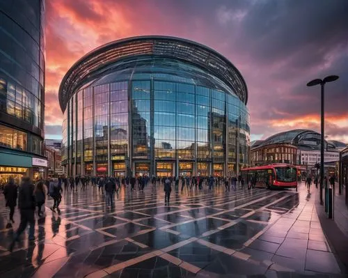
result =
[[[178,59],[211,73],[224,82],[245,104],[248,101],[246,83],[239,70],[213,49],[191,40],[169,36],[139,36],[115,40],[97,47],[74,63],[65,74],[58,98],[62,111],[68,100],[86,82],[102,75],[115,63],[141,56]]]

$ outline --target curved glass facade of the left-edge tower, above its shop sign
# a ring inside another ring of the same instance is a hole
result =
[[[39,155],[45,108],[44,4],[0,1],[0,146],[17,148],[3,142],[5,126],[10,126],[25,132],[27,143],[17,149]]]

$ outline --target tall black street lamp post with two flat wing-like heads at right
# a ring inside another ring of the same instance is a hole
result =
[[[338,79],[337,75],[329,75],[324,79],[313,79],[307,83],[307,86],[319,85],[322,87],[322,109],[321,109],[321,137],[320,137],[320,204],[323,204],[323,187],[324,187],[324,87],[326,83]]]

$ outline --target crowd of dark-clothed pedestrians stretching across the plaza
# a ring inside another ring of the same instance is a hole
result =
[[[314,176],[315,186],[319,184],[319,179]],[[308,176],[306,179],[306,186],[310,190],[310,185],[313,178]],[[335,176],[329,178],[329,183],[334,187]],[[251,177],[251,180],[246,181],[248,189],[255,187],[256,180]],[[88,187],[93,188],[93,192],[99,192],[104,197],[106,207],[111,208],[115,206],[115,197],[118,197],[120,188],[124,187],[125,190],[130,192],[143,192],[146,186],[152,185],[153,188],[157,186],[163,186],[164,188],[164,203],[169,204],[171,198],[172,189],[176,192],[181,190],[213,190],[220,186],[225,187],[225,192],[237,190],[237,187],[244,188],[244,178],[242,176],[231,177],[214,177],[214,176],[181,176],[181,177],[156,177],[152,178],[148,176],[138,177],[108,177],[108,176],[76,176],[66,177],[60,176],[55,178],[49,178],[47,180],[37,180],[35,183],[30,180],[29,177],[22,178],[20,185],[15,183],[13,178],[9,178],[8,183],[3,188],[3,194],[6,199],[6,207],[10,209],[9,222],[6,229],[10,229],[12,224],[15,223],[13,215],[15,213],[15,207],[18,203],[18,209],[20,213],[20,223],[17,231],[14,234],[13,242],[10,244],[10,251],[12,251],[15,242],[19,239],[19,236],[29,225],[29,240],[34,240],[34,227],[35,227],[35,212],[38,218],[45,216],[45,202],[48,196],[53,200],[53,206],[50,207],[53,213],[61,215],[59,208],[62,200],[63,191],[68,194],[77,194],[79,190],[84,191]],[[64,188],[64,190],[63,190]],[[54,216],[55,217],[55,216]]]

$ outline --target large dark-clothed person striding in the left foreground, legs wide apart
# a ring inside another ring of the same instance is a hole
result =
[[[58,181],[57,181],[58,183]],[[19,240],[19,236],[26,229],[29,224],[29,240],[35,240],[35,197],[34,197],[34,185],[31,183],[29,177],[22,178],[22,183],[19,187],[18,193],[18,207],[21,215],[21,222],[13,237],[13,241],[10,244],[10,252],[15,247],[15,242]]]

